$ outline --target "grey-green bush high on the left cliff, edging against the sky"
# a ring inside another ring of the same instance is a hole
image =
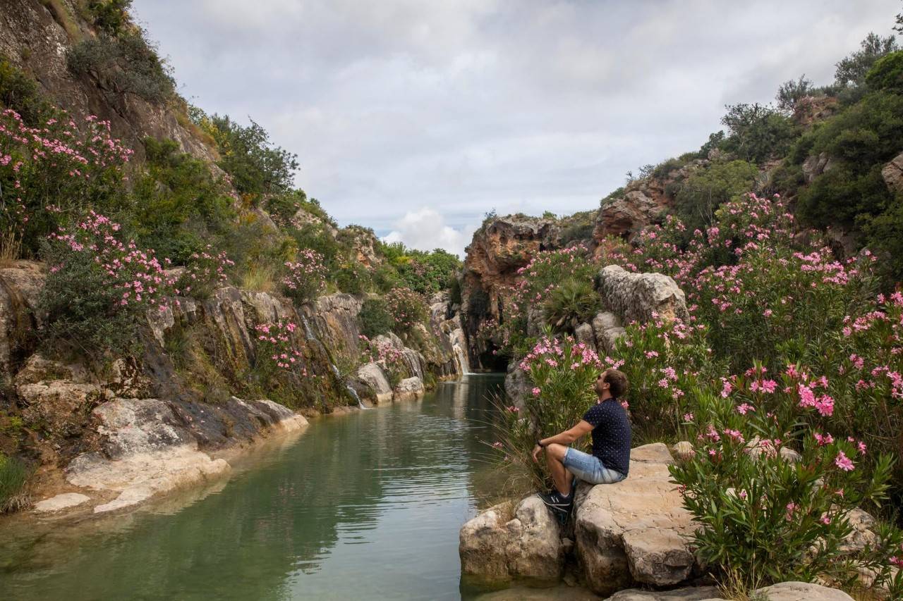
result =
[[[147,43],[143,32],[79,42],[70,48],[67,61],[72,73],[91,75],[115,94],[135,94],[161,104],[175,93],[172,69]]]

